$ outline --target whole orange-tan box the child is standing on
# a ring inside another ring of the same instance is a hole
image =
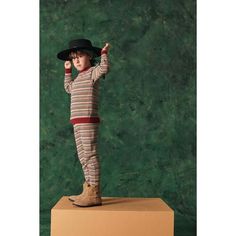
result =
[[[102,197],[77,207],[62,197],[51,209],[51,236],[173,236],[174,211],[160,198]]]

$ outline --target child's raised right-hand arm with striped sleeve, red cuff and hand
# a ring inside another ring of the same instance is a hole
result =
[[[106,46],[101,51],[101,63],[92,72],[92,81],[95,83],[99,78],[101,78],[104,74],[107,74],[109,71],[109,63],[108,63],[108,49],[109,44],[106,43]]]

